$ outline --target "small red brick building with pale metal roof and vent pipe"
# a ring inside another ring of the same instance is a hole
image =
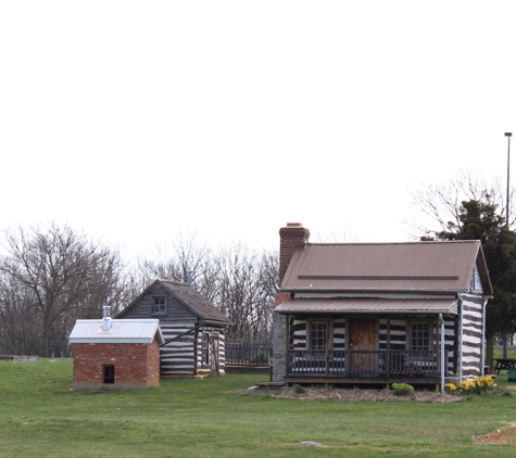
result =
[[[77,320],[70,343],[74,352],[74,390],[138,390],[160,384],[158,319]]]

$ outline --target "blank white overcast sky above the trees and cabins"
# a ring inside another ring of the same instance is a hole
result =
[[[515,1],[2,1],[0,228],[410,240],[410,189],[506,175],[515,24]]]

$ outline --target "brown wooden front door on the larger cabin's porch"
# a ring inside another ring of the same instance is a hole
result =
[[[350,372],[374,374],[376,368],[376,319],[352,318],[349,325]],[[356,353],[355,353],[356,352]]]

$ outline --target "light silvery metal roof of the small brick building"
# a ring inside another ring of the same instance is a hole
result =
[[[158,319],[111,320],[109,331],[102,329],[103,320],[77,320],[70,343],[151,343],[158,334],[163,344],[163,334]]]

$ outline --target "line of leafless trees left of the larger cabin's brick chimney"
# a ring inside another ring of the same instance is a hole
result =
[[[180,237],[167,256],[140,259],[128,271],[119,253],[70,227],[22,227],[4,232],[0,257],[0,347],[10,353],[68,356],[77,319],[121,310],[155,278],[193,287],[235,322],[229,339],[268,340],[277,294],[278,255],[242,243],[214,253]]]

